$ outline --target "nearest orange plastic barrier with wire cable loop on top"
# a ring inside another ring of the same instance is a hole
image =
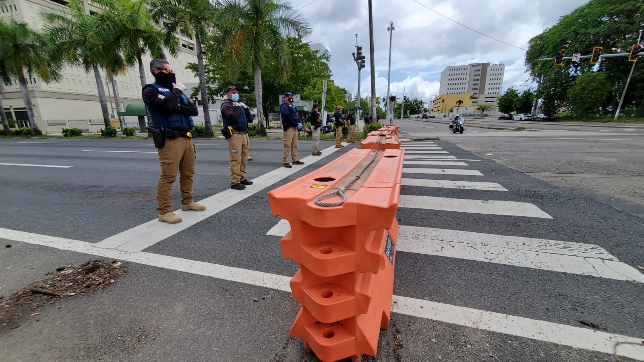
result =
[[[302,307],[290,334],[324,362],[375,356],[389,325],[403,157],[352,149],[269,192],[272,213],[290,223],[282,254],[299,264],[290,288]]]

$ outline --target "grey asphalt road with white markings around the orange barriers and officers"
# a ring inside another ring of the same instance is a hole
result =
[[[597,173],[601,167],[582,162],[589,155],[571,149],[591,147],[581,138],[604,132],[579,131],[565,137],[579,138],[570,142],[547,133],[533,138],[545,131],[451,135],[439,124],[399,123],[403,137],[441,140],[406,144],[392,323],[381,331],[377,356],[364,360],[612,361],[614,341],[644,338],[644,274],[637,269],[644,225],[636,206],[522,169],[544,173],[543,165],[564,167],[572,158],[578,172]],[[616,161],[596,162],[641,172],[641,158],[627,159],[641,152],[633,138],[644,132],[605,133],[592,147],[616,148]],[[129,272],[101,292],[41,307],[38,321],[0,326],[3,361],[317,360],[289,336],[299,304],[286,281],[297,265],[281,255],[285,231],[274,231],[279,218],[270,214],[267,191],[354,146],[336,151],[323,142],[325,157],[289,171],[280,167],[280,141],[252,140],[256,184],[230,193],[225,143],[199,141],[194,195],[205,199],[207,214],[197,220],[187,213],[182,224],[165,227],[153,220],[158,163],[151,142],[20,142],[53,141],[0,140],[0,238],[13,245],[0,249],[0,296],[97,256],[123,260]],[[554,159],[519,152],[544,142],[571,149]],[[310,155],[310,143],[300,149],[300,157]],[[641,192],[641,184],[633,188]],[[176,184],[173,202],[180,205]],[[643,349],[619,348],[625,361],[644,360]]]

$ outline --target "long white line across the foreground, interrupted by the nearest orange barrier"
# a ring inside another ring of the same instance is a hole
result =
[[[277,291],[290,292],[290,276],[198,262],[196,260],[175,258],[173,256],[152,254],[149,252],[104,249],[96,247],[95,244],[81,242],[79,240],[55,238],[53,236],[25,233],[23,231],[10,229],[0,228],[0,235],[7,240],[17,242],[45,245],[55,249],[93,254],[104,258],[151,265],[163,269],[188,272],[221,280],[231,280],[237,281],[238,283],[266,287]],[[404,296],[393,296],[392,312],[474,329],[510,334],[535,339],[537,341],[556,343],[558,345],[594,350],[607,354],[612,354],[612,348],[616,341],[631,341],[636,343],[641,341],[641,338],[621,336],[600,330],[573,327],[538,319],[516,317],[509,314],[459,307]],[[620,356],[643,359],[641,350],[638,350],[638,347],[632,345],[621,345],[617,351]]]

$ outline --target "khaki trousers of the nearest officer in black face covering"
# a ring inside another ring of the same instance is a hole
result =
[[[178,137],[166,140],[166,145],[156,150],[161,164],[161,175],[156,184],[156,203],[159,214],[166,214],[172,209],[172,184],[175,182],[176,171],[179,171],[179,188],[181,189],[181,204],[193,202],[193,176],[195,149],[193,140],[188,137]]]

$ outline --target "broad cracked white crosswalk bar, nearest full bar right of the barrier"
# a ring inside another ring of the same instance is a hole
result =
[[[397,251],[644,283],[644,274],[598,245],[403,226]]]

